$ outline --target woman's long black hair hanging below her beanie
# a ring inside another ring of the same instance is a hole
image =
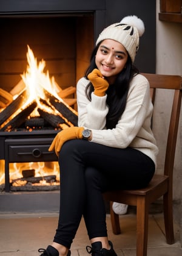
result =
[[[98,51],[99,44],[93,49],[92,55],[90,57],[90,65],[86,70],[85,77],[88,79],[88,75],[97,68],[95,64],[95,55]],[[128,55],[126,67],[118,74],[116,80],[112,86],[109,86],[107,89],[107,105],[109,105],[109,112],[106,116],[106,127],[107,129],[112,129],[116,127],[118,119],[123,114],[126,107],[127,93],[129,90],[130,80],[138,74],[138,69],[132,65],[132,60]],[[86,87],[86,96],[91,101],[91,94],[94,91],[93,85],[91,82]]]

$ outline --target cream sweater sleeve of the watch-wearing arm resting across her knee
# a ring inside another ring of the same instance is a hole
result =
[[[92,141],[115,148],[127,148],[137,141],[136,148],[150,148],[155,143],[150,129],[152,110],[149,82],[141,75],[133,77],[118,124],[114,129],[92,130]]]

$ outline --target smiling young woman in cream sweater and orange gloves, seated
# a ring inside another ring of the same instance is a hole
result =
[[[158,152],[150,129],[148,80],[133,66],[144,24],[125,17],[101,32],[85,77],[77,84],[78,127],[56,135],[61,200],[58,229],[41,255],[70,255],[83,216],[91,246],[87,252],[116,256],[107,238],[103,192],[145,187]]]

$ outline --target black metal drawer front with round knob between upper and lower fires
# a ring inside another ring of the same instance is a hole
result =
[[[49,152],[58,131],[38,130],[33,132],[0,132],[0,158],[5,160],[5,192],[10,191],[9,163],[54,162],[55,152]]]

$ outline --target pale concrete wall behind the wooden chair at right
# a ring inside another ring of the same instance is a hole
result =
[[[182,76],[182,24],[158,20],[158,13],[160,12],[160,0],[157,0],[156,3],[156,73]],[[158,130],[160,130],[160,133],[155,134],[157,137],[158,146],[160,148],[157,169],[157,172],[160,173],[161,169],[163,168],[166,124],[170,115],[169,108],[166,108],[166,105],[170,106],[171,104],[172,92],[166,91],[163,94],[158,92],[157,96],[163,96],[163,100],[157,107],[158,113],[155,113],[155,123],[158,126]],[[178,202],[182,196],[181,128],[182,124],[180,120],[174,168],[174,200]]]

